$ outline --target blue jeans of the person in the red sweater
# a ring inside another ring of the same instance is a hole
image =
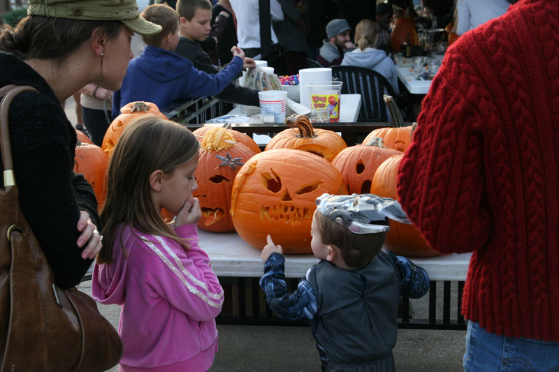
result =
[[[464,371],[559,371],[559,343],[497,336],[467,323]]]

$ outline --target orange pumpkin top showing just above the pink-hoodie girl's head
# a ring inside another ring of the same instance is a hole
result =
[[[101,147],[103,148],[103,151],[106,151],[108,156],[112,153],[112,149],[115,148],[115,145],[117,144],[122,131],[124,131],[124,128],[126,128],[133,119],[146,114],[153,114],[161,117],[161,119],[167,119],[164,114],[159,112],[157,105],[151,102],[131,102],[124,105],[124,107],[120,109],[120,112],[121,114],[112,121],[105,132],[105,137],[103,137],[103,144]]]

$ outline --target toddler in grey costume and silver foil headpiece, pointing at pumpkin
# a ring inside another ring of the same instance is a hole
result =
[[[398,202],[372,194],[323,194],[317,205],[311,248],[321,261],[289,293],[282,247],[268,235],[266,302],[282,318],[310,321],[323,371],[394,371],[398,299],[429,289],[425,270],[382,249],[386,217],[409,221]]]

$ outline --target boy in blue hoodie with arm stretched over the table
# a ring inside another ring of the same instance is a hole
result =
[[[142,16],[161,25],[160,34],[144,37],[147,47],[132,59],[119,91],[112,96],[112,117],[120,107],[134,101],[155,103],[161,112],[170,111],[173,101],[219,94],[242,70],[245,53],[233,47],[233,60],[217,74],[197,70],[191,61],[173,53],[179,41],[179,15],[166,4],[150,5]]]

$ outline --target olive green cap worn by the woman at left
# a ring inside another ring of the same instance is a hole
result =
[[[136,34],[154,35],[161,26],[140,17],[136,0],[29,0],[27,15],[83,21],[120,21]]]

